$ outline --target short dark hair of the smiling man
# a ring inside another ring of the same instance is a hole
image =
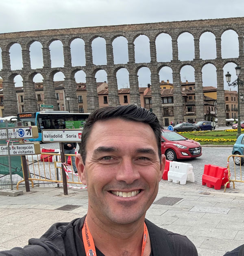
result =
[[[125,105],[118,107],[102,107],[92,112],[86,120],[81,136],[81,147],[79,153],[81,154],[83,163],[86,159],[86,145],[91,129],[97,121],[105,121],[114,118],[120,118],[122,120],[130,120],[135,122],[142,122],[150,125],[153,129],[155,137],[157,139],[159,159],[161,161],[161,131],[163,129],[157,116],[143,107],[136,105]]]

